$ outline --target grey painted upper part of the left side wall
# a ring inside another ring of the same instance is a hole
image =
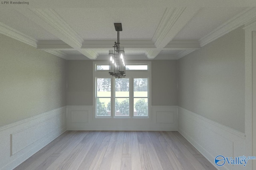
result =
[[[66,106],[66,61],[0,34],[0,126]]]

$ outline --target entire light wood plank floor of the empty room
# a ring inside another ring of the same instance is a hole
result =
[[[216,170],[177,131],[66,131],[15,170]]]

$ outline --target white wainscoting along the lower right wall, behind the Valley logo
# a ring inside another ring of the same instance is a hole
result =
[[[245,155],[243,150],[246,148],[244,133],[182,107],[178,107],[178,131],[216,168],[220,170],[244,168],[242,165],[232,166],[225,163],[223,166],[216,166],[214,163],[214,159],[218,155],[233,158]]]

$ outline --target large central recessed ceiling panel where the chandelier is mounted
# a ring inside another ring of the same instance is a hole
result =
[[[115,22],[122,23],[120,39],[152,39],[165,8],[57,8],[55,11],[84,39],[117,39]]]

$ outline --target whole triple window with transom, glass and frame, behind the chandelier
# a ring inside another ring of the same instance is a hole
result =
[[[94,62],[94,110],[98,118],[147,118],[150,116],[151,62],[126,64],[126,77],[108,74],[107,62]]]

